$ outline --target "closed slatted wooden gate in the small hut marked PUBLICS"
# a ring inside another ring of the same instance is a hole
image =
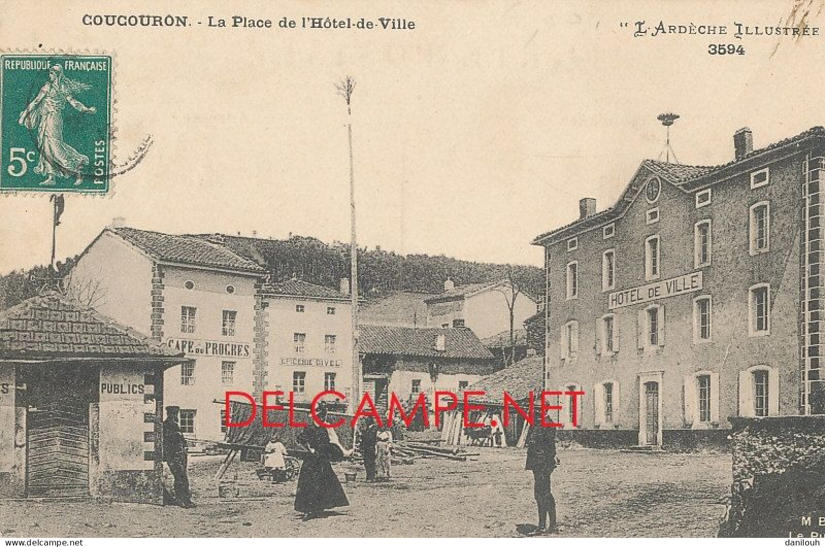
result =
[[[60,401],[30,408],[27,422],[26,496],[88,496],[88,404]]]

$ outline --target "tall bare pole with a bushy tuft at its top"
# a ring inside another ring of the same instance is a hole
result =
[[[350,408],[361,402],[361,356],[358,353],[358,240],[356,238],[356,178],[352,165],[352,91],[356,82],[350,76],[337,84],[338,94],[347,101],[347,142],[350,148],[350,299],[352,313],[352,394]]]

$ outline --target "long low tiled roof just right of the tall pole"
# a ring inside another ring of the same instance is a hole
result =
[[[380,355],[487,359],[493,354],[481,345],[469,328],[408,328],[384,325],[358,326],[358,351]],[[445,336],[445,351],[436,350],[436,339]]]

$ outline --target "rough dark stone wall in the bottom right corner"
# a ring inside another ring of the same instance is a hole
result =
[[[825,501],[825,416],[738,417],[730,422],[733,484],[719,535],[825,534],[825,526],[818,526]]]

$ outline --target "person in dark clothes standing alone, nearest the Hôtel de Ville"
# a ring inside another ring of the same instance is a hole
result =
[[[533,494],[539,507],[539,526],[535,533],[557,532],[559,526],[556,523],[556,500],[550,490],[550,474],[559,464],[556,457],[556,428],[543,427],[540,413],[536,413],[526,444],[525,469],[533,472]]]

